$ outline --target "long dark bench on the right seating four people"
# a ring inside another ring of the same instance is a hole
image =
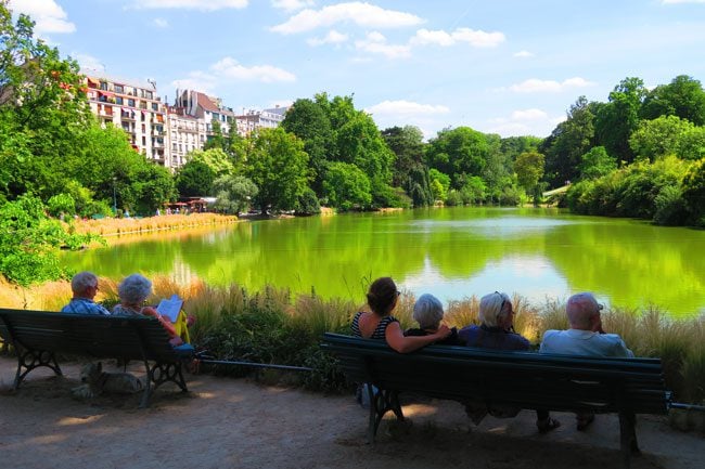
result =
[[[383,341],[324,334],[321,348],[337,356],[350,382],[368,383],[368,438],[374,441],[384,415],[403,419],[399,392],[465,402],[469,399],[518,408],[616,413],[625,467],[638,453],[636,414],[667,414],[658,359],[593,359],[540,355],[466,347],[430,346],[395,352]]]

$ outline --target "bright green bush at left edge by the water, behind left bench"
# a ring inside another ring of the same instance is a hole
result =
[[[56,279],[65,274],[59,248],[77,249],[92,239],[69,235],[57,220],[44,214],[41,200],[23,195],[0,206],[0,274],[23,286]]]

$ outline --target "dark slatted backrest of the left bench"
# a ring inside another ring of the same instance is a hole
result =
[[[0,309],[0,334],[29,350],[124,360],[175,357],[167,331],[153,317]]]

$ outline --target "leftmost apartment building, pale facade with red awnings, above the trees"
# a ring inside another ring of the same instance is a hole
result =
[[[86,81],[91,110],[101,123],[123,129],[137,152],[156,164],[171,167],[166,106],[156,93],[156,83],[91,74],[86,74]]]

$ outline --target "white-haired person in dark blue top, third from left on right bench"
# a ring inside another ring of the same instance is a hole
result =
[[[479,321],[482,325],[465,326],[458,333],[467,347],[496,350],[528,350],[529,341],[514,331],[514,308],[509,295],[495,291],[485,295],[479,300]],[[518,408],[504,405],[469,402],[465,411],[470,418],[478,424],[489,412],[495,417],[514,417]],[[539,432],[546,433],[559,428],[561,422],[551,418],[548,411],[536,411],[536,427]]]

